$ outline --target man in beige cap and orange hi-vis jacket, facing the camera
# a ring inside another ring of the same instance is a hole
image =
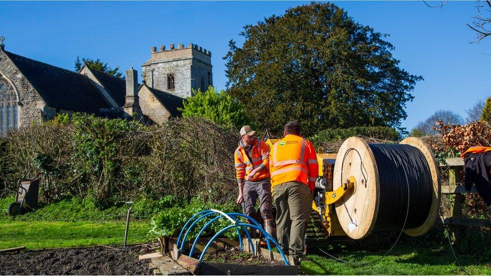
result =
[[[239,187],[237,204],[243,203],[244,213],[258,219],[256,201],[264,220],[265,230],[276,239],[276,223],[273,218],[273,200],[269,174],[269,145],[254,137],[250,126],[240,129],[242,138],[234,153],[235,172]]]

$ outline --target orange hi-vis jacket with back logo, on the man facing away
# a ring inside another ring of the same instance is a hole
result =
[[[308,185],[310,191],[313,191],[319,173],[314,146],[305,138],[288,134],[271,149],[269,170],[271,187],[298,181]]]

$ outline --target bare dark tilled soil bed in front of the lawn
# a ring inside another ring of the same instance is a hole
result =
[[[139,253],[105,247],[0,254],[1,275],[153,275]]]

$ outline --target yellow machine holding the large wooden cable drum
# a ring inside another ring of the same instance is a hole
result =
[[[266,144],[273,148],[279,139],[268,139]],[[356,181],[350,177],[346,183],[333,191],[333,174],[337,153],[317,153],[319,174],[315,181],[312,209],[318,214],[320,223],[328,236],[346,236],[336,215],[335,203],[347,192],[354,192]]]

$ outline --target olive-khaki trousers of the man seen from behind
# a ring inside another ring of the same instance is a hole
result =
[[[296,259],[303,256],[305,230],[312,209],[312,194],[301,182],[286,182],[273,187],[276,206],[276,235],[281,250]]]

